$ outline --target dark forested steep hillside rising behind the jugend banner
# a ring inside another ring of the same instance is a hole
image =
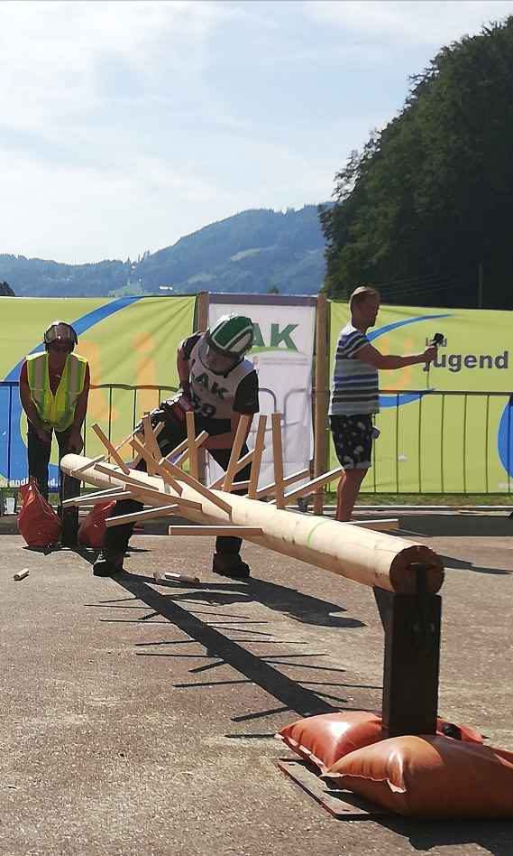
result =
[[[335,177],[326,289],[512,309],[513,17],[445,47]]]

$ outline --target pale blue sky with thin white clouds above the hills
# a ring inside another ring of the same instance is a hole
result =
[[[513,0],[0,0],[0,253],[136,259],[329,200],[408,76]]]

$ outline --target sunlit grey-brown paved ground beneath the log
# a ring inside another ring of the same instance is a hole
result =
[[[513,540],[415,526],[450,569],[440,712],[513,749]],[[209,572],[209,538],[133,545],[114,581],[0,537],[0,853],[513,853],[513,823],[337,821],[279,772],[282,725],[380,707],[370,590],[252,544],[247,585]]]

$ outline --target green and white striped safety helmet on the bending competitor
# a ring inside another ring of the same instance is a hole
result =
[[[199,358],[215,375],[227,375],[252,348],[254,330],[246,315],[222,315],[202,336]]]

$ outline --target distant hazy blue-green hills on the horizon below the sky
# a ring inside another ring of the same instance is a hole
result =
[[[160,285],[172,285],[175,294],[316,294],[325,275],[324,247],[315,205],[285,213],[255,209],[146,252],[137,262],[63,265],[0,255],[0,280],[32,297],[159,294]]]

